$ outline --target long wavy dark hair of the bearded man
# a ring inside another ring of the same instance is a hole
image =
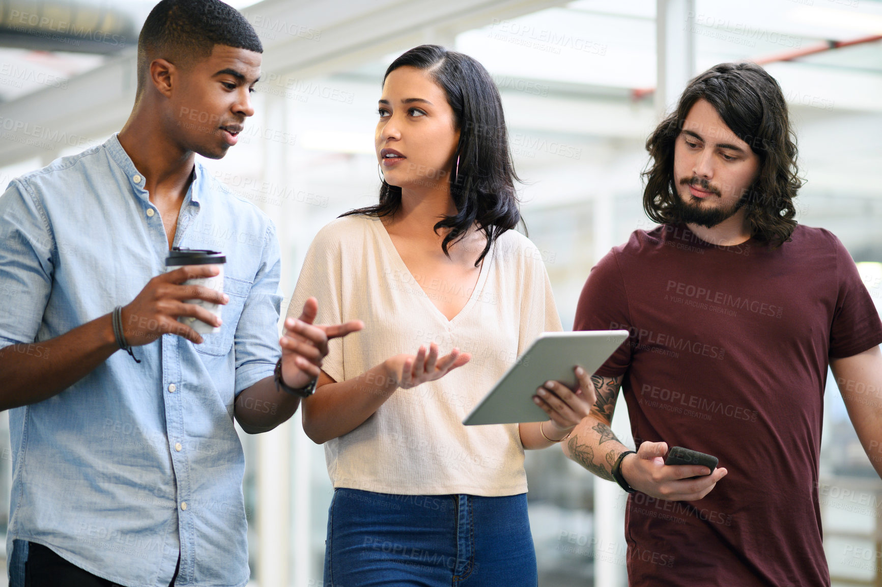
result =
[[[803,185],[796,167],[796,135],[790,129],[781,87],[757,64],[714,65],[689,82],[676,111],[647,139],[651,161],[642,174],[643,209],[654,222],[680,222],[674,144],[686,115],[699,100],[709,102],[729,129],[759,155],[759,177],[741,201],[752,236],[772,246],[789,241],[796,229],[793,199]]]

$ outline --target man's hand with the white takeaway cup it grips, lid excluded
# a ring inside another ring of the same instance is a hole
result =
[[[199,285],[198,280],[221,277],[222,284],[222,267],[203,264],[171,268],[173,270],[153,277],[138,296],[123,307],[123,335],[129,345],[149,344],[164,334],[182,336],[197,344],[203,342],[194,328],[178,321],[180,318],[193,319],[195,324],[204,323],[205,328],[221,326],[220,305],[227,304],[229,297],[222,291]],[[212,312],[213,307],[218,311]]]

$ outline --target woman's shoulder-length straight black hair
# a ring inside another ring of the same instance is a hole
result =
[[[520,180],[512,164],[499,91],[482,64],[438,45],[420,45],[399,56],[386,69],[383,82],[392,71],[405,65],[428,71],[445,91],[447,103],[453,109],[456,128],[460,131],[453,158],[455,161],[459,157],[460,162],[449,181],[457,213],[437,222],[435,231],[450,229],[441,243],[442,250],[449,256],[450,246],[477,225],[487,237],[487,245],[475,261],[477,267],[493,242],[521,220],[514,190],[514,182]],[[400,207],[401,188],[384,181],[376,206],[341,215],[384,217],[395,214]]]

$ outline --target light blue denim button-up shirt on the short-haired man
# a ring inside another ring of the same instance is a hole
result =
[[[0,197],[0,347],[40,342],[131,302],[168,239],[116,135],[11,182]],[[273,223],[198,162],[174,245],[227,257],[218,333],[117,351],[82,380],[10,410],[13,582],[25,541],[131,587],[248,582],[235,396],[280,357]],[[150,327],[139,324],[138,327]],[[155,327],[155,325],[153,326]],[[13,547],[14,540],[14,547]]]

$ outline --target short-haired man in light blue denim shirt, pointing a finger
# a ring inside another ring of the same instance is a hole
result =
[[[248,583],[233,418],[248,433],[290,418],[299,397],[280,390],[277,361],[282,385],[308,389],[327,339],[360,327],[312,326],[310,299],[279,340],[273,223],[195,160],[235,144],[262,50],[227,4],[163,0],[138,39],[123,130],[0,197],[12,585]],[[222,251],[224,293],[182,285],[216,266],[164,273],[172,246]],[[194,298],[222,304],[221,319]]]

